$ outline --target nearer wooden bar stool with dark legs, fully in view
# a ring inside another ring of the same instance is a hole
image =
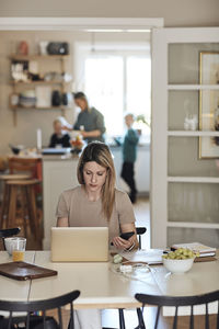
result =
[[[35,192],[34,186],[38,184],[38,180],[11,180],[5,182],[5,190],[7,190],[7,209],[8,209],[8,223],[7,227],[13,227],[15,225],[16,219],[16,198],[18,198],[18,191],[21,191],[21,207],[23,214],[23,226],[24,226],[24,234],[26,235],[26,227],[28,219],[31,232],[34,235],[35,238],[42,237],[39,223],[37,220],[37,209],[36,209],[36,200],[35,200]]]

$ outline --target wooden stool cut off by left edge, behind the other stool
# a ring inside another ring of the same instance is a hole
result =
[[[1,207],[1,217],[0,217],[0,228],[3,228],[3,223],[4,223],[4,217],[9,213],[8,206],[9,206],[9,189],[5,182],[11,181],[11,180],[27,180],[30,179],[30,174],[2,174],[0,175],[0,180],[3,182],[3,198],[2,198],[2,207]]]

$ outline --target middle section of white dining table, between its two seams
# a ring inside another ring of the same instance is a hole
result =
[[[58,271],[58,276],[34,280],[30,300],[50,298],[73,290],[81,291],[74,308],[131,308],[139,304],[136,293],[159,294],[149,272],[146,282],[130,281],[114,273],[110,263],[51,263],[50,252],[36,251],[35,264]]]

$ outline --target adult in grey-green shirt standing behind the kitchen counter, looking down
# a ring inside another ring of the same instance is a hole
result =
[[[88,143],[99,140],[104,141],[104,133],[106,131],[104,116],[95,107],[89,106],[87,95],[80,91],[73,94],[74,103],[81,109],[73,131],[80,131],[83,139]],[[68,129],[68,128],[67,128]]]

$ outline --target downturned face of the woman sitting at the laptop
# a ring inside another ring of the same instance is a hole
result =
[[[87,162],[83,167],[83,180],[89,192],[101,192],[107,170],[95,161]]]

